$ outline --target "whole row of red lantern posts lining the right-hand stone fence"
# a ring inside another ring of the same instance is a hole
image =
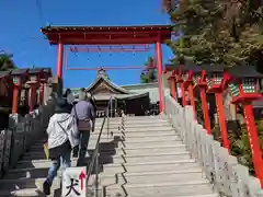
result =
[[[169,67],[168,67],[169,68]],[[198,88],[202,101],[202,111],[204,115],[204,126],[207,134],[210,135],[210,118],[208,114],[208,106],[206,93],[215,93],[216,106],[221,130],[222,146],[228,149],[230,153],[230,144],[228,139],[228,131],[222,104],[222,92],[231,84],[236,84],[239,93],[232,94],[233,104],[242,104],[244,108],[244,118],[247,129],[249,132],[250,147],[252,151],[252,160],[256,177],[263,185],[263,160],[261,148],[258,138],[258,131],[254,123],[252,101],[262,97],[260,93],[260,79],[263,74],[256,72],[251,66],[240,66],[232,69],[224,70],[221,67],[211,66],[175,66],[170,67],[171,71],[171,95],[176,100],[176,83],[181,88],[182,105],[187,105],[185,91],[188,92],[190,104],[193,106],[194,116],[197,120],[197,113],[195,108],[194,89]],[[241,74],[239,74],[242,72]],[[249,91],[248,85],[249,84]],[[233,92],[232,92],[233,93]]]

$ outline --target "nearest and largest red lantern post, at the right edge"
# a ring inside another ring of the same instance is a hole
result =
[[[259,73],[253,66],[235,67],[228,69],[227,73],[232,103],[241,104],[243,107],[255,175],[261,181],[261,184],[263,184],[262,153],[252,106],[253,101],[262,97],[260,93],[260,79],[263,78],[263,74]]]

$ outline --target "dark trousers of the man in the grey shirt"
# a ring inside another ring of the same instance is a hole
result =
[[[90,130],[80,130],[80,144],[73,150],[73,157],[78,155],[79,153],[79,159],[77,164],[78,166],[81,166],[84,163],[85,153],[88,151],[89,139],[90,139]]]

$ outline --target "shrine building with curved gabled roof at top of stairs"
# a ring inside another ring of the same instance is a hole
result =
[[[78,101],[81,88],[71,89],[76,101]],[[129,85],[117,85],[113,83],[104,69],[98,70],[94,81],[85,88],[87,92],[95,99],[98,116],[104,113],[110,99],[113,99],[113,108],[124,109],[125,114],[141,116],[149,111],[150,104],[159,101],[158,83],[140,83]]]

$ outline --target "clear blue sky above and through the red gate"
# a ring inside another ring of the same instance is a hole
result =
[[[37,2],[41,5],[37,7]],[[14,55],[20,68],[52,67],[56,74],[57,46],[49,46],[39,28],[52,25],[149,25],[169,24],[161,12],[161,0],[1,0],[0,50]],[[155,47],[152,46],[155,49]],[[163,63],[172,57],[163,45]],[[69,67],[141,66],[155,50],[140,54],[71,54]],[[139,83],[141,70],[108,71],[117,84]],[[71,71],[64,67],[67,88],[88,86],[95,79],[95,71]]]

